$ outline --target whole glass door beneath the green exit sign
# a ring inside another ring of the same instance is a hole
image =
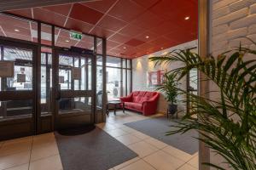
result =
[[[94,123],[94,88],[91,55],[55,50],[55,128]]]

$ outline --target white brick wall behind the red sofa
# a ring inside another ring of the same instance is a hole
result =
[[[154,67],[154,62],[149,61],[148,58],[152,56],[160,56],[161,54],[165,54],[167,52],[172,51],[173,49],[185,49],[185,48],[193,48],[197,47],[197,40],[192,42],[186,42],[180,45],[177,45],[172,48],[167,48],[165,50],[156,52],[154,54],[144,55],[143,57],[139,57],[137,59],[132,59],[132,91],[142,90],[142,91],[154,91],[155,88],[150,88],[147,86],[147,72],[148,71],[158,71],[158,70],[173,70],[181,65],[157,65]],[[183,88],[186,88],[185,80],[181,81]],[[178,105],[180,110],[185,109],[185,106]],[[161,94],[158,105],[158,112],[166,113],[167,110],[167,102],[164,96]]]

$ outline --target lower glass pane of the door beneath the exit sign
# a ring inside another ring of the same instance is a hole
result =
[[[83,113],[91,114],[91,98],[61,98],[59,100],[59,114]]]

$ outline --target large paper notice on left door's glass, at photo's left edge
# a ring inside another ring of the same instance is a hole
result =
[[[0,77],[14,77],[15,64],[13,61],[0,61]]]

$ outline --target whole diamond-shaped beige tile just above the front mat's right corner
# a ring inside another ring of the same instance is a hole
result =
[[[156,150],[158,150],[156,147],[154,147],[151,144],[148,144],[144,141],[137,142],[135,144],[130,144],[128,147],[137,153],[138,156],[144,157],[148,156],[149,154],[154,153]]]

